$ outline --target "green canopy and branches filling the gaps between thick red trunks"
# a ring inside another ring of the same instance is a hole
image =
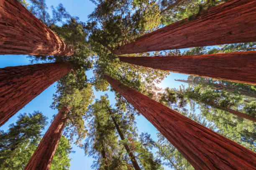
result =
[[[157,133],[157,141],[149,133],[138,134],[136,118],[140,113],[113,87],[109,88],[104,74],[255,152],[256,123],[234,114],[256,117],[254,85],[189,75],[187,80],[178,80],[189,83],[188,87],[162,89],[159,83],[169,72],[120,62],[114,52],[165,25],[185,18],[195,20],[203,11],[228,0],[91,1],[95,9],[85,23],[71,16],[62,4],[51,6],[49,13],[45,0],[19,0],[74,50],[69,57],[28,56],[33,63],[72,64],[72,71],[57,81],[50,106],[56,110],[69,108],[50,170],[69,169],[71,143],[94,159],[91,168],[97,170],[133,170],[136,164],[142,170],[163,170],[163,165],[176,170],[194,169],[161,133]],[[246,42],[123,56],[205,55],[255,49],[256,42]],[[89,71],[93,76],[87,79]],[[103,93],[109,89],[115,103],[110,103],[107,94],[94,100],[94,90]],[[7,132],[0,131],[0,168],[21,170],[26,166],[42,138],[46,120],[39,111],[24,113]]]

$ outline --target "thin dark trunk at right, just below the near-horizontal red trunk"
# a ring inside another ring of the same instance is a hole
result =
[[[209,83],[207,83],[207,82],[206,83],[205,82],[192,82],[191,80],[175,80],[175,81],[186,82],[188,84],[194,84],[194,85],[198,85],[198,84],[209,85],[213,89],[224,90],[224,91],[230,92],[230,93],[233,93],[234,91],[237,90],[237,91],[241,92],[241,94],[244,95],[244,96],[256,98],[256,95],[253,94],[253,91],[248,92],[248,91],[246,91],[244,89],[239,90],[238,88],[232,87],[232,86],[229,86],[229,85],[223,85],[223,84],[218,84],[218,83],[210,83],[210,82]],[[245,102],[250,102],[250,101],[245,100]]]

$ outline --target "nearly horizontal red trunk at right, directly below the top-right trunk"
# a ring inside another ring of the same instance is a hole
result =
[[[189,56],[120,56],[119,59],[159,70],[256,85],[256,51]]]

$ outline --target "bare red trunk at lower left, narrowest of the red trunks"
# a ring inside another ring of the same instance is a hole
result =
[[[69,107],[63,107],[59,111],[24,170],[49,170],[67,122],[65,113],[69,110]]]

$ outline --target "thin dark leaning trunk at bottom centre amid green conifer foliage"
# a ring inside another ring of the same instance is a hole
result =
[[[107,109],[108,109],[108,112],[110,113],[110,116],[111,116],[111,118],[112,118],[114,124],[115,124],[115,128],[116,128],[116,130],[118,131],[118,135],[120,136],[121,140],[125,140],[124,135],[123,135],[122,131],[120,130],[118,123],[115,121],[115,117],[113,117],[112,111],[110,110],[110,108],[109,108],[107,105],[106,105],[106,107],[107,107]],[[140,168],[140,166],[138,165],[138,162],[137,162],[135,156],[133,155],[133,152],[130,150],[128,144],[127,144],[127,143],[124,143],[123,145],[124,145],[125,150],[126,150],[126,152],[128,153],[128,155],[129,155],[129,157],[130,157],[130,159],[131,159],[131,162],[132,162],[132,164],[133,164],[133,168],[134,168],[135,170],[141,170],[141,168]]]

